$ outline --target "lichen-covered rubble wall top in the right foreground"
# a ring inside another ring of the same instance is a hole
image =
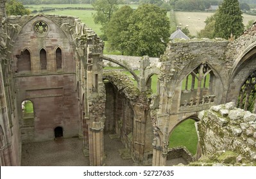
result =
[[[196,123],[202,155],[232,151],[256,162],[256,114],[234,107],[234,103],[214,105],[201,111]]]

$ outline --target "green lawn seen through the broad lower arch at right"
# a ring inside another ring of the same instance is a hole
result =
[[[178,125],[172,132],[169,138],[169,148],[175,146],[185,146],[189,152],[196,154],[198,136],[194,120],[185,120]]]

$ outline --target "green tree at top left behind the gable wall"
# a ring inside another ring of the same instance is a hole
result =
[[[6,12],[7,15],[29,15],[30,10],[24,8],[21,2],[16,0],[10,0],[6,4]]]

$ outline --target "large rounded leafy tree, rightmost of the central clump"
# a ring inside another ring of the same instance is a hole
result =
[[[170,22],[166,10],[153,4],[141,5],[128,19],[125,51],[138,56],[160,56],[169,42]]]

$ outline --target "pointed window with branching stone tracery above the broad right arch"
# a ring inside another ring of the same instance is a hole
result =
[[[201,63],[182,80],[181,107],[198,106],[214,102],[214,73],[207,63]]]

